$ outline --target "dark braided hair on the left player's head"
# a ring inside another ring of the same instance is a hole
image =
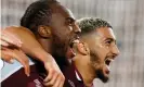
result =
[[[35,33],[39,25],[49,25],[52,16],[50,4],[55,2],[57,1],[38,0],[32,2],[21,18],[21,26],[27,27]]]

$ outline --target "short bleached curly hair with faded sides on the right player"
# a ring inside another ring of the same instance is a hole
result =
[[[107,23],[104,20],[101,18],[96,18],[96,17],[84,17],[84,18],[80,18],[78,20],[78,24],[79,27],[81,28],[81,34],[88,34],[96,28],[100,27],[112,27],[112,25],[109,23]]]

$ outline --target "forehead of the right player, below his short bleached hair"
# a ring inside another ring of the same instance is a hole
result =
[[[97,28],[96,29],[96,34],[103,38],[103,39],[106,39],[106,38],[112,38],[114,40],[116,40],[116,37],[114,35],[114,32],[110,27],[101,27],[101,28]]]

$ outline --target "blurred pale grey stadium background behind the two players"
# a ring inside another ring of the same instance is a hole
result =
[[[1,0],[1,26],[19,25],[35,0]],[[110,80],[95,87],[144,87],[144,0],[58,0],[76,18],[101,17],[117,36],[120,55],[112,64]]]

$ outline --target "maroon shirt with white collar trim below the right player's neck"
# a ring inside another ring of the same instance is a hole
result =
[[[76,69],[74,62],[71,62],[70,65],[63,66],[62,71],[66,78],[64,87],[86,87],[82,76]],[[93,85],[91,87],[93,87]]]

